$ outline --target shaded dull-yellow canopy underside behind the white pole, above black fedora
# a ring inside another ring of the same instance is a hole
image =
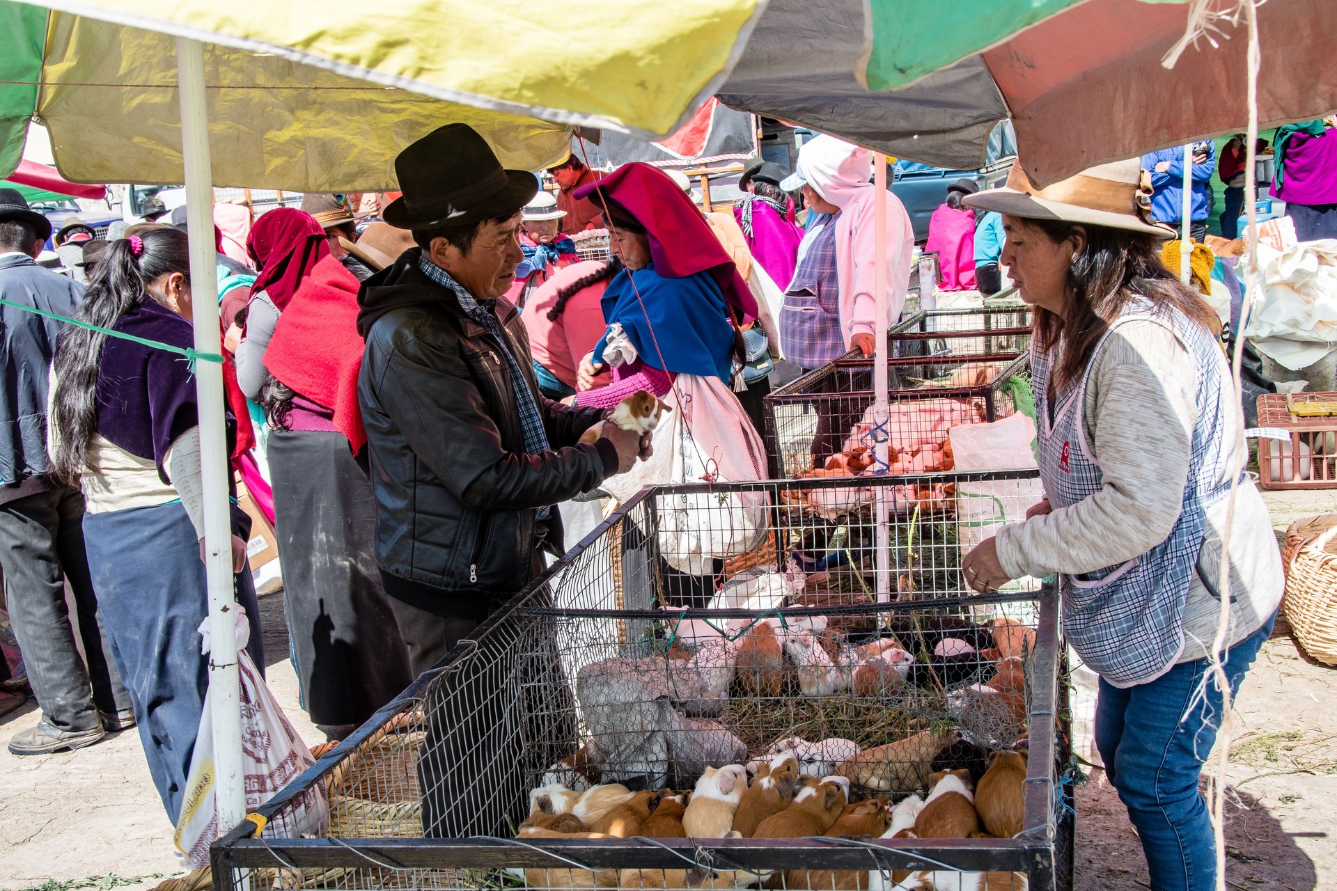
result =
[[[473,126],[508,167],[539,170],[568,151],[562,124],[230,47],[206,47],[205,61],[217,186],[394,188],[394,155],[451,122]],[[172,37],[51,13],[36,116],[67,179],[179,183],[178,103]]]

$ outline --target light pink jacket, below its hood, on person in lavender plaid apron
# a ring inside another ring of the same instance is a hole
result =
[[[874,286],[874,256],[877,238],[874,214],[877,204],[874,186],[858,190],[836,219],[836,281],[840,287],[840,330],[846,349],[854,334],[876,334],[877,295]],[[889,327],[901,315],[910,285],[910,254],[915,250],[915,230],[901,199],[886,192],[886,318]]]

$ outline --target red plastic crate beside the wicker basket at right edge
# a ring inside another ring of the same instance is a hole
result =
[[[1263,489],[1337,489],[1337,415],[1301,417],[1290,406],[1337,403],[1337,393],[1265,393],[1258,426],[1285,430],[1290,439],[1258,439],[1258,485]]]

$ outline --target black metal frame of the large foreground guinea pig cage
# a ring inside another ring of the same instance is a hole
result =
[[[941,484],[944,480],[969,482],[981,480],[1017,481],[1034,472],[921,474],[916,477],[880,477],[878,486]],[[868,486],[868,480],[824,481],[824,488]],[[263,838],[266,823],[282,822],[285,808],[297,807],[302,796],[321,787],[337,765],[345,763],[358,747],[396,715],[425,699],[428,688],[459,671],[483,644],[501,633],[507,625],[527,617],[576,614],[598,618],[643,618],[646,610],[584,609],[563,610],[552,602],[550,586],[564,568],[583,552],[610,534],[630,512],[654,509],[652,496],[664,492],[721,493],[797,492],[810,489],[813,481],[770,481],[757,484],[714,484],[662,486],[646,489],[610,516],[598,529],[576,545],[563,561],[554,564],[524,592],[509,600],[480,625],[469,640],[461,640],[432,671],[425,672],[390,704],[380,709],[352,736],[325,753],[317,763],[283,791],[261,806],[249,818],[211,847],[214,886],[219,891],[254,887],[250,870],[503,870],[531,868],[643,868],[682,870],[685,863],[741,870],[953,870],[1024,872],[1032,891],[1071,887],[1075,812],[1067,784],[1070,748],[1067,743],[1067,687],[1064,649],[1059,632],[1059,597],[1052,582],[1027,593],[996,593],[975,597],[932,597],[880,602],[845,609],[864,612],[968,608],[981,604],[1032,601],[1038,608],[1036,639],[1031,659],[1034,680],[1029,684],[1027,728],[1029,757],[1024,781],[1023,831],[1012,839],[904,839],[857,840],[845,838],[808,839],[512,839],[469,836],[435,838]],[[829,612],[824,606],[786,606],[786,617],[816,616]],[[678,612],[675,610],[677,616]],[[746,609],[686,609],[682,617],[755,617]],[[289,887],[289,886],[281,886]],[[353,886],[364,887],[364,886]],[[369,883],[365,887],[386,887]],[[388,887],[439,887],[435,884]],[[449,886],[447,886],[449,887]],[[453,887],[471,887],[467,882]]]

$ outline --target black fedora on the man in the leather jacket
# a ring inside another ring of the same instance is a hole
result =
[[[507,216],[539,191],[527,170],[503,170],[492,147],[468,124],[447,124],[394,159],[401,198],[381,218],[397,228],[440,228]]]

